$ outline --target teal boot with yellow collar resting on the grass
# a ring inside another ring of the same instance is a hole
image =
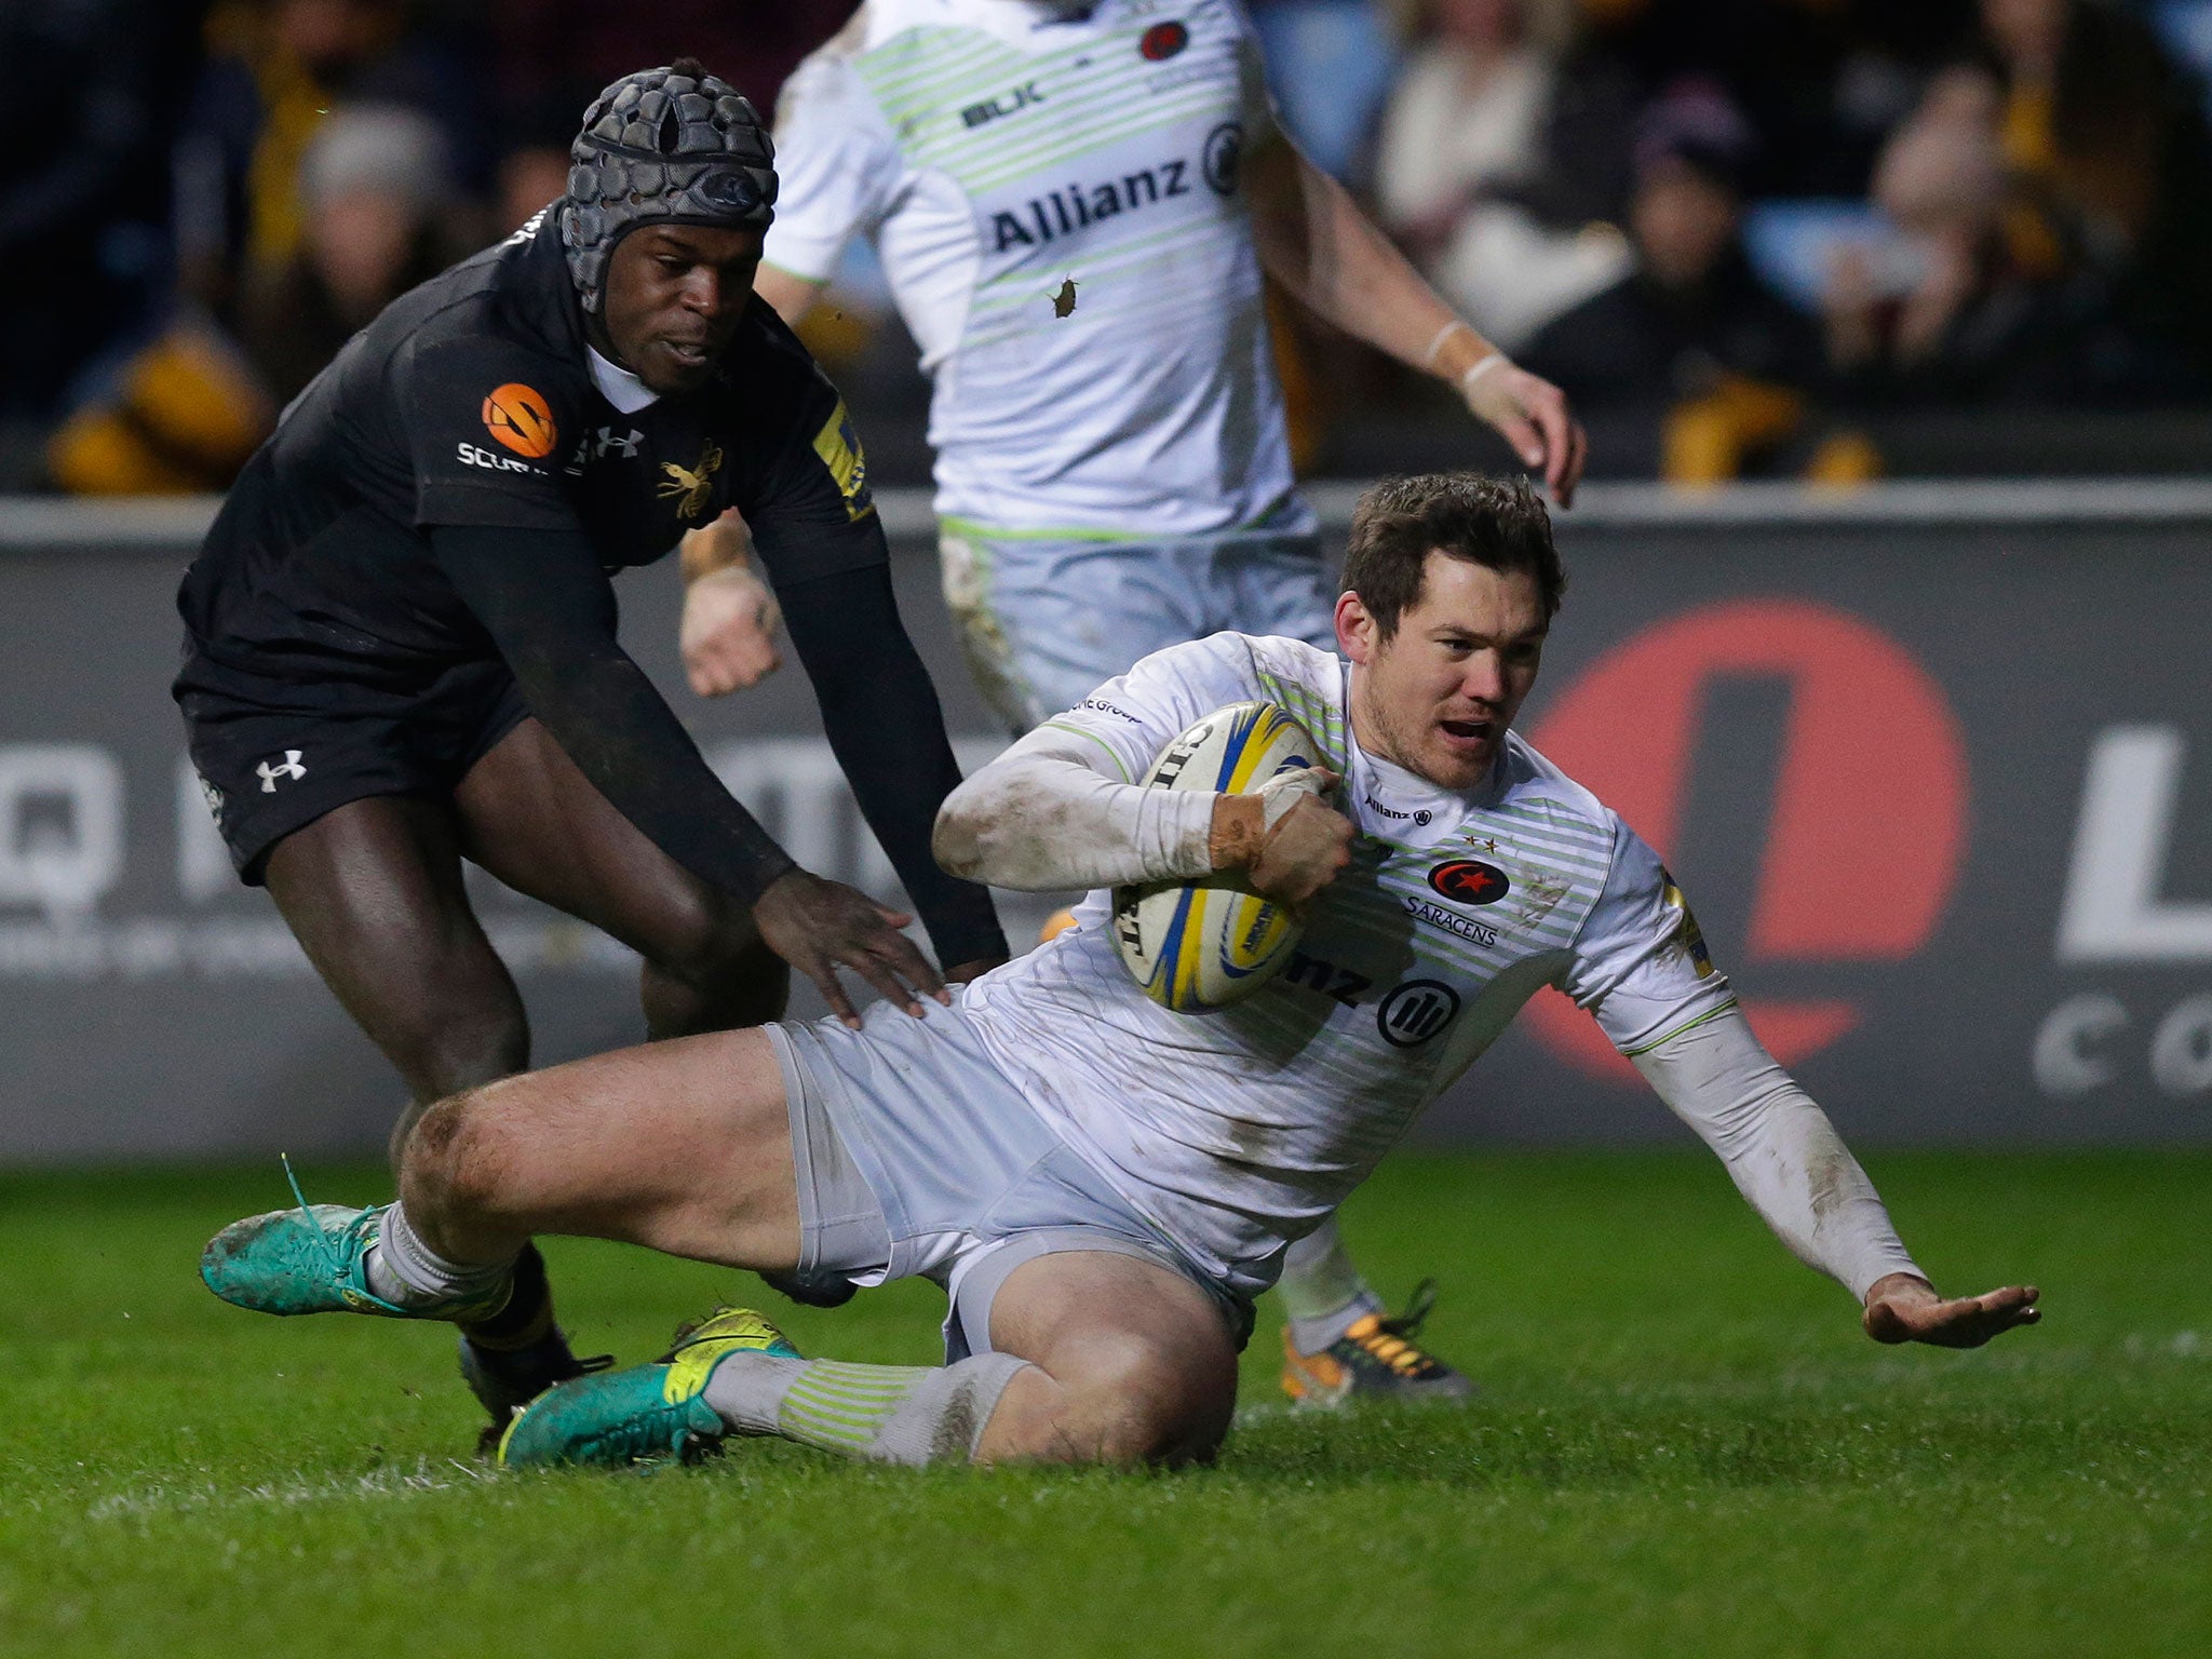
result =
[[[580,1376],[540,1394],[507,1427],[500,1464],[626,1464],[710,1451],[728,1427],[706,1402],[706,1383],[732,1354],[801,1358],[750,1307],[717,1310],[677,1332],[675,1347],[653,1365]]]

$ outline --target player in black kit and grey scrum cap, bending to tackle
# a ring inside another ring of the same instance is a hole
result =
[[[299,396],[179,593],[192,763],[239,874],[407,1082],[394,1152],[529,1066],[462,858],[637,949],[655,1037],[774,1020],[785,964],[847,1020],[838,967],[909,1013],[945,993],[909,918],[799,869],[617,644],[611,573],[730,507],[945,978],[1006,956],[989,894],[929,856],[958,768],[845,405],[750,303],[759,117],[679,60],[608,86],[573,161]],[[495,1422],[577,1374],[542,1263],[462,1329],[462,1374]]]

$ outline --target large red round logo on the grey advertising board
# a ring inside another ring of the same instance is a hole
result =
[[[1909,958],[1936,933],[1958,880],[1966,743],[1942,686],[1880,628],[1803,599],[1686,611],[1599,657],[1528,741],[1666,858],[1686,818],[1708,692],[1743,677],[1790,690],[1774,799],[1756,803],[1765,845],[1739,876],[1752,883],[1750,967]],[[1845,998],[1747,995],[1743,1011],[1785,1066],[1863,1018]],[[1528,1015],[1577,1068],[1635,1077],[1566,998],[1540,995]]]

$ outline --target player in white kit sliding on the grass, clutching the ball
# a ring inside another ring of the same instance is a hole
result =
[[[945,803],[949,867],[1102,889],[1079,927],[922,1020],[681,1037],[458,1095],[409,1141],[396,1206],[239,1221],[204,1276],[265,1312],[471,1318],[533,1234],[571,1232],[949,1292],[945,1367],[805,1360],[730,1310],[659,1363],[542,1394],[509,1464],[726,1436],[883,1462],[1206,1458],[1285,1248],[1557,984],[1869,1336],[1978,1347],[2035,1323],[2033,1287],[1931,1287],[1659,858],[1509,730],[1562,584],[1524,484],[1376,487],[1336,604],[1343,659],[1281,637],[1172,646]],[[1243,699],[1294,712],[1325,765],[1261,794],[1133,783]],[[1121,967],[1104,889],[1219,869],[1298,905],[1329,973],[1177,1015]]]

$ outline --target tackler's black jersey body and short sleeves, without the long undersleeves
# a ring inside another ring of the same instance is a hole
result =
[[[394,301],[208,533],[179,595],[197,646],[254,672],[336,650],[345,677],[489,655],[436,524],[580,526],[613,573],[737,507],[779,588],[885,560],[845,407],[765,303],[706,387],[637,414],[586,349],[553,212]]]

